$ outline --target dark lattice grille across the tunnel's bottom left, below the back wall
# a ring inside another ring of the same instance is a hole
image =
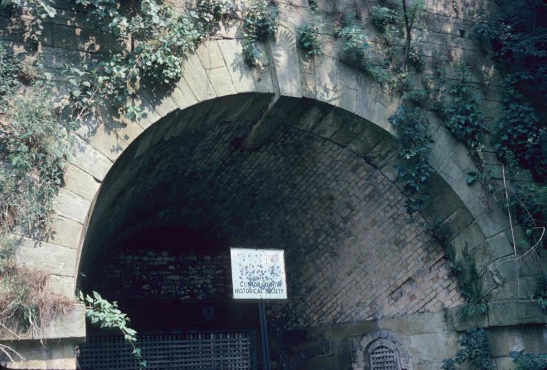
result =
[[[142,333],[137,347],[147,369],[251,370],[251,332]],[[132,347],[118,335],[90,335],[81,345],[83,370],[134,370]]]

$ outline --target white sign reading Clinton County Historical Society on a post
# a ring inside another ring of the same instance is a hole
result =
[[[287,299],[284,252],[230,248],[234,299]]]

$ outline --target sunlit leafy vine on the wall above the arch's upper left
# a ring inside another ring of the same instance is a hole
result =
[[[226,0],[198,1],[197,11],[178,15],[166,3],[142,0],[134,3],[126,17],[110,1],[78,0],[97,22],[107,19],[107,28],[123,39],[130,39],[131,48],[114,53],[98,68],[70,66],[72,120],[77,122],[90,113],[90,106],[104,101],[138,119],[141,109],[133,97],[141,89],[143,79],[169,85],[183,76],[183,61],[196,51],[211,32],[216,30],[229,12]]]

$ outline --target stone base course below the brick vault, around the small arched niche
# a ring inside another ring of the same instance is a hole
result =
[[[533,309],[534,304],[522,302],[519,309]],[[508,306],[504,311],[512,309]],[[504,313],[493,308],[490,316],[495,319],[499,314]],[[538,318],[528,324],[524,324],[525,320],[516,321],[513,324],[518,325],[509,327],[499,327],[495,322],[483,325],[490,338],[489,352],[496,370],[515,368],[510,351],[547,353],[547,328],[541,313]],[[462,333],[462,328],[456,329],[442,311],[276,333],[271,342],[272,369],[363,370],[358,355],[362,342],[364,338],[380,336],[400,342],[401,352],[409,356],[407,370],[440,370],[442,360],[453,358],[460,350],[457,341]],[[462,367],[471,368],[468,364]]]

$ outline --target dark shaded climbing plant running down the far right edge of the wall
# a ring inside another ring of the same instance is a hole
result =
[[[493,127],[495,150],[510,176],[507,181],[504,178],[502,199],[507,198],[504,207],[526,232],[524,240],[515,240],[516,247],[529,254],[541,252],[545,245],[547,219],[547,115],[544,102],[538,99],[547,91],[547,4],[495,2],[496,12],[479,14],[475,37],[484,52],[493,52],[502,74],[502,114]],[[541,276],[537,283],[539,294],[534,299],[541,305]]]

